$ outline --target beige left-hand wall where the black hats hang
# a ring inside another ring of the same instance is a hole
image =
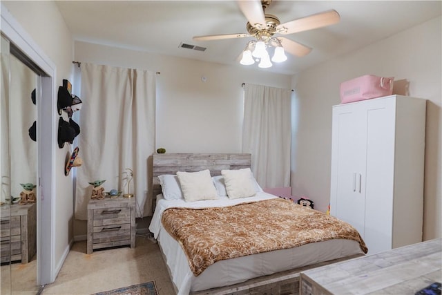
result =
[[[62,84],[63,79],[71,79],[73,38],[52,1],[1,1],[28,33],[30,38],[44,51],[57,67],[55,82]],[[55,90],[57,93],[57,89]],[[54,106],[54,115],[57,115]],[[48,144],[57,144],[56,142]],[[59,269],[64,256],[69,251],[73,238],[73,182],[64,175],[66,155],[70,153],[69,144],[58,149],[55,155],[56,196],[55,218],[55,265]],[[45,230],[45,229],[42,229]]]

